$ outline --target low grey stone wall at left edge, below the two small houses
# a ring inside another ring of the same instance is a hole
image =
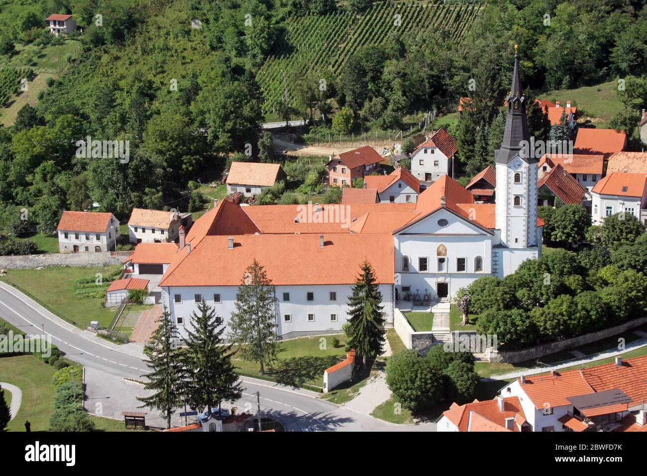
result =
[[[122,264],[124,256],[111,253],[50,253],[48,255],[0,256],[0,269],[47,266],[108,266]]]

